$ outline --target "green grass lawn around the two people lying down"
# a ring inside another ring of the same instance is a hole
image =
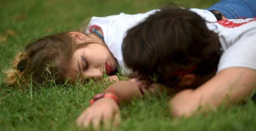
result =
[[[87,18],[125,13],[141,13],[158,8],[166,0],[0,0],[0,131],[80,130],[78,115],[90,99],[107,84],[50,83],[35,88],[8,87],[2,71],[26,44],[45,35],[74,31]],[[206,8],[218,0],[172,0],[186,7]],[[134,131],[255,131],[256,104],[220,107],[208,114],[190,118],[171,118],[170,97],[134,100],[121,108],[122,123],[114,130]]]

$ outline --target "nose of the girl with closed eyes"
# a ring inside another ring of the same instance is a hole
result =
[[[100,79],[103,76],[102,71],[99,68],[88,69],[83,72],[83,75],[87,78],[97,78]]]

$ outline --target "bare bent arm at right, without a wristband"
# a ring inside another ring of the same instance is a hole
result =
[[[233,104],[244,100],[256,89],[256,71],[234,67],[220,71],[195,90],[186,89],[170,100],[175,117],[190,116],[200,106],[203,110],[220,104]]]

